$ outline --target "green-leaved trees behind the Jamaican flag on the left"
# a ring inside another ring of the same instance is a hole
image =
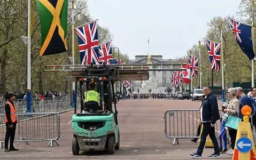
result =
[[[45,65],[71,65],[72,57],[72,11],[68,1],[68,33],[65,53],[39,57],[41,49],[40,20],[34,3],[34,25],[31,46],[32,90],[68,91],[66,73],[44,73]],[[27,45],[20,41],[20,36],[27,35],[27,1],[0,1],[0,92],[26,91],[27,88]],[[75,27],[92,21],[87,1],[76,0],[74,11]],[[80,55],[75,34],[75,64],[80,64]],[[113,35],[107,27],[98,25],[99,43],[112,41]],[[121,54],[128,60],[126,54]]]

